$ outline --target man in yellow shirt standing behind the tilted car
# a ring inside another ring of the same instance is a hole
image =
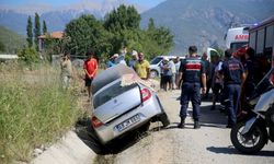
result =
[[[136,72],[140,77],[140,79],[148,80],[149,79],[149,62],[145,59],[142,52],[138,54],[138,58],[139,59],[135,65]]]

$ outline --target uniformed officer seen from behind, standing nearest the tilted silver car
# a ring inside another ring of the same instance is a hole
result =
[[[204,62],[197,58],[196,46],[190,46],[189,48],[190,57],[182,61],[179,69],[179,79],[176,84],[179,85],[180,80],[182,83],[181,92],[181,122],[179,128],[184,128],[185,118],[187,113],[189,102],[192,102],[193,106],[193,119],[194,129],[201,128],[199,126],[199,105],[201,105],[201,78],[203,82],[203,94],[206,92],[206,74]]]

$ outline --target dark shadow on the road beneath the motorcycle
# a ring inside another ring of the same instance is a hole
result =
[[[271,156],[271,157],[274,157],[274,151],[260,151],[256,154],[241,154],[232,145],[230,145],[228,148],[209,147],[209,148],[206,148],[206,150],[208,150],[210,152],[214,152],[214,153],[217,153],[217,154],[238,154],[238,155]]]

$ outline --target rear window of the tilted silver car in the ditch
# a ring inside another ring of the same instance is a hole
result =
[[[114,83],[110,87],[107,87],[104,91],[96,94],[96,96],[93,99],[94,109],[96,107],[103,105],[104,103],[109,102],[110,99],[112,99],[112,98],[125,93],[126,91],[134,89],[134,87],[137,87],[136,83],[130,84],[130,85],[126,85],[126,86],[121,86],[121,81],[117,83]]]

